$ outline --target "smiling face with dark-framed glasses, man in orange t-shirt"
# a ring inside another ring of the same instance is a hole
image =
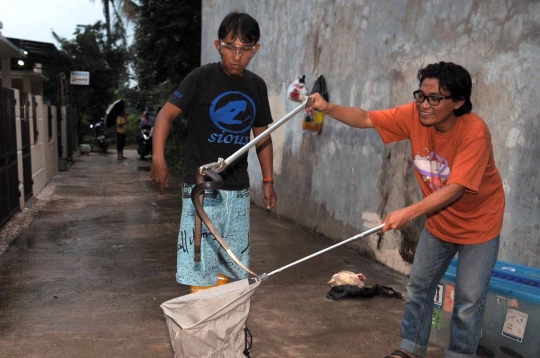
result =
[[[446,97],[450,92],[439,88],[439,80],[436,78],[426,78],[420,85],[420,91],[424,96]],[[438,132],[447,132],[454,127],[458,117],[454,110],[465,103],[464,100],[440,99],[438,105],[429,104],[434,99],[425,98],[424,102],[416,103],[416,109],[420,115],[420,122],[425,126],[435,126]]]

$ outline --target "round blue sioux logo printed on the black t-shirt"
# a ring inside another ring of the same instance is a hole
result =
[[[208,142],[247,144],[255,113],[255,103],[246,94],[231,91],[219,95],[212,102],[209,114],[221,131],[212,133]]]

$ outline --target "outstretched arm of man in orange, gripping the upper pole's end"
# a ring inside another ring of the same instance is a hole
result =
[[[369,117],[369,112],[357,107],[344,107],[326,102],[318,93],[310,95],[314,99],[312,106],[306,107],[309,115],[313,110],[328,114],[330,117],[355,128],[375,128]]]

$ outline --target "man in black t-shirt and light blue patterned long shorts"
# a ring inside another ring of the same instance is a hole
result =
[[[163,194],[169,173],[164,160],[165,141],[171,121],[180,114],[189,118],[183,178],[183,206],[178,235],[176,280],[191,292],[245,278],[247,273],[223,251],[203,225],[201,261],[194,262],[195,209],[190,199],[199,167],[227,158],[254,136],[264,132],[272,116],[266,84],[246,66],[259,50],[259,25],[243,13],[227,15],[214,42],[221,62],[201,66],[182,81],[159,112],[154,126],[150,177]],[[270,136],[257,144],[263,176],[263,203],[274,208],[273,150]],[[205,211],[232,252],[249,266],[249,177],[247,154],[231,163],[220,175],[223,190],[205,194]]]

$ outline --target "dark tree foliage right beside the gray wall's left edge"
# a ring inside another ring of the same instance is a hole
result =
[[[195,67],[201,54],[201,1],[140,0],[131,48],[137,87],[129,101],[158,108]]]

